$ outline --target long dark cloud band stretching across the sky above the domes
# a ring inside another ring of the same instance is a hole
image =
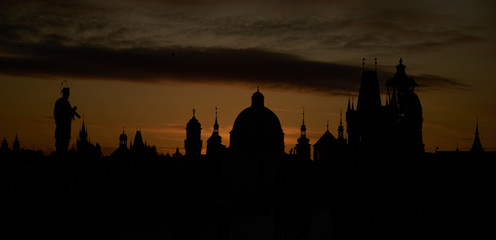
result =
[[[261,84],[268,88],[320,94],[356,92],[361,66],[316,62],[261,49],[127,48],[66,46],[52,41],[23,47],[0,47],[3,75],[81,78],[143,83],[162,81],[206,84]],[[379,72],[379,76],[391,73]],[[384,77],[384,78],[386,78]],[[427,87],[466,85],[434,75],[419,76]]]

